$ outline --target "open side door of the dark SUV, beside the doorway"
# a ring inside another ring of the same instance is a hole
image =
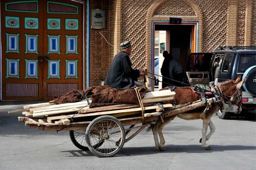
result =
[[[191,53],[189,55],[185,69],[189,84],[209,84],[212,55],[212,53]]]

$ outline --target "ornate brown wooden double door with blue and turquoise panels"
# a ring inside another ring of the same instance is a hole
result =
[[[82,89],[82,11],[71,0],[1,0],[3,100]]]

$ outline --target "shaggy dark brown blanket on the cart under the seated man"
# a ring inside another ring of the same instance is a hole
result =
[[[144,98],[145,86],[139,86],[140,96]],[[64,104],[74,103],[87,98],[91,98],[91,107],[108,106],[111,104],[139,104],[135,89],[119,90],[111,86],[92,86],[85,90],[72,90],[64,95],[55,96],[50,103]]]

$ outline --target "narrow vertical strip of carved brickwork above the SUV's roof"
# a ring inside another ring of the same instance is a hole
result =
[[[238,14],[237,14],[237,30],[236,30],[236,44],[237,46],[244,46],[245,33],[245,0],[239,0]]]

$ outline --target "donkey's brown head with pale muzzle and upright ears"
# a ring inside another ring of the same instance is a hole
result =
[[[225,104],[228,104],[229,110],[233,113],[240,113],[242,111],[242,90],[241,86],[247,80],[247,77],[241,81],[239,75],[236,80],[229,80],[221,83],[220,89],[223,94],[222,98]]]

